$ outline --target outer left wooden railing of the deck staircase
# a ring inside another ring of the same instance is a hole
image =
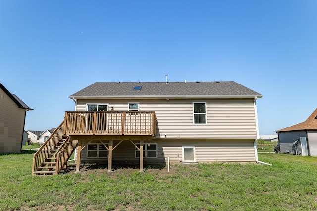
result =
[[[45,159],[49,157],[54,147],[57,146],[59,140],[63,137],[64,133],[64,121],[55,129],[49,139],[43,143],[40,149],[34,153],[32,163],[32,175],[36,175],[34,172],[41,166]]]

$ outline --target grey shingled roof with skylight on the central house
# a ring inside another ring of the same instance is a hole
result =
[[[140,90],[133,90],[141,86]],[[254,98],[262,97],[236,82],[96,82],[70,98]]]

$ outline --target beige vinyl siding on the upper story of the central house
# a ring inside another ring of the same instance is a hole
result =
[[[115,111],[127,111],[131,100],[78,100],[77,110],[87,103],[109,103]],[[157,138],[256,139],[252,99],[138,100],[140,111],[155,111]],[[193,102],[207,103],[207,124],[194,124]]]

